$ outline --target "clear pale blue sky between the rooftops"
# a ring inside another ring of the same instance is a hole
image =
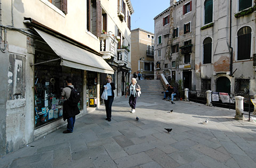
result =
[[[132,30],[141,28],[154,33],[154,18],[170,6],[170,0],[131,0],[134,13]]]

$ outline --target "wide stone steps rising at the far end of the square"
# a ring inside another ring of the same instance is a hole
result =
[[[164,91],[161,80],[137,80],[141,88],[141,94],[145,95],[163,95]]]

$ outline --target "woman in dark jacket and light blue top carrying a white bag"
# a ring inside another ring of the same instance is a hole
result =
[[[106,114],[107,114],[107,119],[108,121],[111,121],[111,111],[112,111],[112,103],[114,101],[114,90],[116,89],[115,84],[112,83],[112,77],[110,75],[107,75],[106,78],[107,82],[104,83],[104,85],[101,88],[101,92],[103,93],[104,89],[107,90],[108,93],[108,99],[104,100],[105,107],[106,107]]]

